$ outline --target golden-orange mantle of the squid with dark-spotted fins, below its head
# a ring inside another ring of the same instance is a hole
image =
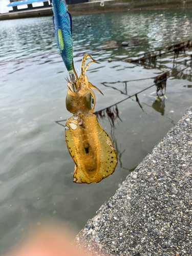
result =
[[[75,183],[98,183],[113,174],[117,154],[113,142],[90,113],[72,115],[66,123],[68,151],[75,162]]]

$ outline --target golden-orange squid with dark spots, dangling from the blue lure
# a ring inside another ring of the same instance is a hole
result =
[[[81,63],[81,74],[74,91],[68,83],[66,108],[73,115],[67,120],[65,138],[68,151],[75,162],[75,183],[97,183],[113,174],[117,165],[117,154],[113,142],[101,128],[97,117],[93,114],[95,94],[92,89],[100,92],[88,81],[84,72],[84,62],[90,56],[84,55]]]

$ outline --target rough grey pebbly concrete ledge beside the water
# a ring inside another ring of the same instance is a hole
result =
[[[94,255],[192,255],[192,106],[76,237]]]

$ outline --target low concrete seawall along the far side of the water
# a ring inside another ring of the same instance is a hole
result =
[[[192,8],[192,0],[103,0],[68,5],[72,15],[120,12],[128,10],[158,10]],[[53,15],[52,7],[0,14],[0,20]]]

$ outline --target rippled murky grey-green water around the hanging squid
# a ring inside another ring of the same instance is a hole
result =
[[[191,25],[190,10],[74,16],[75,67],[80,69],[84,53],[101,63],[92,64],[87,71],[90,82],[104,94],[96,92],[95,110],[139,92],[154,79],[130,80],[184,68],[183,63],[173,64],[173,55],[148,66],[120,58],[191,39]],[[101,49],[105,40],[127,38],[140,38],[142,44]],[[155,101],[153,87],[138,95],[144,112],[135,98],[118,104],[122,121],[117,118],[114,129],[106,114],[99,119],[118,152],[115,173],[98,184],[74,184],[65,130],[55,123],[71,116],[65,108],[67,72],[56,50],[52,17],[0,22],[1,254],[17,243],[29,226],[39,226],[45,219],[66,222],[79,231],[191,104],[190,68],[168,79],[164,102]],[[177,61],[188,54],[191,52]]]

